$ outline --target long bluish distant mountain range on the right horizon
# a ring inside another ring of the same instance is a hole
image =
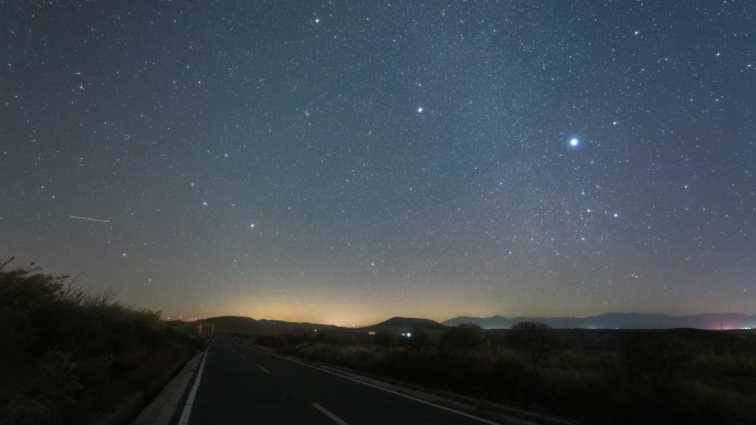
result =
[[[557,329],[743,329],[756,328],[756,315],[708,314],[695,316],[643,315],[636,312],[608,312],[589,317],[515,317],[502,316],[455,317],[443,322],[447,326],[475,323],[484,329],[508,329],[519,321],[538,321]]]

